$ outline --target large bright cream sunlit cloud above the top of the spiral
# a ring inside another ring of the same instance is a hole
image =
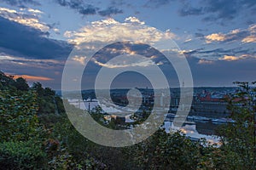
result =
[[[66,31],[64,36],[68,37],[68,42],[73,44],[111,42],[120,38],[137,40],[137,37],[143,37],[142,42],[157,42],[162,38],[175,37],[170,30],[161,32],[154,27],[144,26],[144,22],[135,17],[129,17],[125,20],[125,22],[119,22],[109,18],[94,21],[90,25],[79,29],[79,31]]]

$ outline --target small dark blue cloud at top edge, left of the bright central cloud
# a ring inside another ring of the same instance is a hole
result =
[[[100,9],[92,4],[86,3],[84,0],[55,0],[63,7],[68,7],[76,10],[79,14],[100,14],[102,16],[110,16],[113,14],[122,14],[123,10],[116,7],[108,7],[106,9]]]

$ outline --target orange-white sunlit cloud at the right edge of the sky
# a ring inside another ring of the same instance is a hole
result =
[[[207,43],[232,41],[240,41],[245,43],[256,42],[256,25],[249,26],[247,29],[244,30],[232,30],[226,34],[222,32],[212,33],[205,36],[205,40]]]

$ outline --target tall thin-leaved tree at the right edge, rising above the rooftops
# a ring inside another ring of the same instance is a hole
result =
[[[256,88],[248,82],[235,82],[239,87],[236,95],[230,96],[228,109],[230,122],[219,129],[222,147],[226,159],[235,164],[237,169],[256,168],[256,139],[255,139],[255,99]],[[252,85],[255,82],[252,83]]]

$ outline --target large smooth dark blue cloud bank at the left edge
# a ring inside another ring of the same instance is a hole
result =
[[[72,50],[67,42],[49,39],[48,32],[20,25],[0,17],[0,49],[7,54],[18,54],[34,59],[65,58]]]

